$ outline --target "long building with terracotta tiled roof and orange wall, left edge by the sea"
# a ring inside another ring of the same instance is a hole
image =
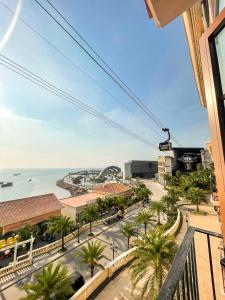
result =
[[[54,194],[0,202],[0,234],[61,215],[61,209],[62,205]]]

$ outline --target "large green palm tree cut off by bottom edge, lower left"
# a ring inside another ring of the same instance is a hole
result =
[[[21,289],[27,293],[27,296],[20,300],[66,300],[73,294],[71,279],[69,278],[68,269],[61,264],[53,268],[49,264],[42,269],[42,272],[34,274],[33,282],[25,284]]]

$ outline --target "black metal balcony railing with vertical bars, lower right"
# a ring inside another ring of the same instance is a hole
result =
[[[207,249],[209,257],[209,270],[211,277],[212,299],[216,300],[216,289],[214,280],[214,270],[212,261],[211,241],[210,236],[222,239],[219,233],[203,230],[196,227],[189,227],[180,245],[174,261],[171,265],[166,280],[160,289],[157,300],[198,300],[199,295],[198,271],[195,252],[195,232],[206,235]]]

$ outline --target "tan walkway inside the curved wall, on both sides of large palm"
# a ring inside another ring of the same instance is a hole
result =
[[[206,216],[193,214],[196,209],[193,205],[182,206],[181,211],[183,215],[183,222],[180,228],[180,232],[176,236],[176,241],[180,244],[187,232],[187,226],[195,226],[203,229],[211,230],[220,233],[220,224],[217,221],[216,213],[211,205],[200,206],[200,210],[207,213]],[[186,222],[186,217],[187,221]],[[201,293],[201,300],[209,300],[212,298],[211,278],[209,271],[209,260],[206,237],[199,234],[195,237],[196,244],[196,257],[197,257],[197,269],[199,274],[199,290]],[[220,241],[218,239],[211,239],[212,256],[214,276],[217,292],[217,299],[221,299],[220,295],[220,282],[221,282],[221,269],[219,266],[219,250],[218,247]],[[134,291],[132,289],[130,278],[131,270],[126,268],[119,275],[110,281],[110,283],[95,297],[96,300],[141,300],[140,286]]]

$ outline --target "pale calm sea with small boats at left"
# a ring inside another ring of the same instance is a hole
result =
[[[70,193],[56,185],[56,181],[69,172],[80,169],[3,169],[0,181],[13,182],[12,187],[0,187],[0,201],[15,200],[41,194],[54,193],[59,199]],[[20,173],[14,176],[14,173]],[[28,181],[31,179],[31,181]]]

